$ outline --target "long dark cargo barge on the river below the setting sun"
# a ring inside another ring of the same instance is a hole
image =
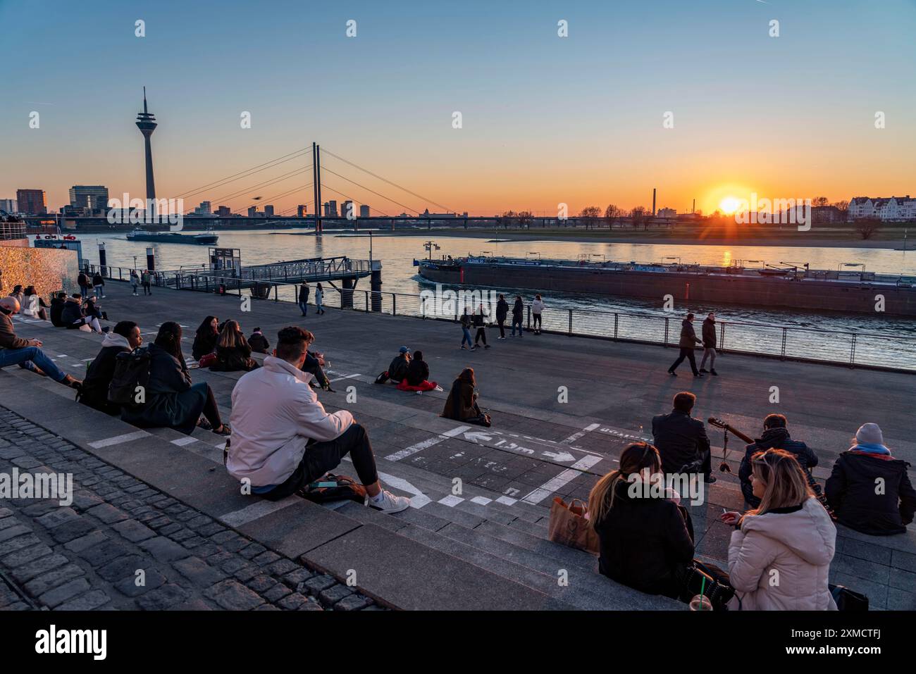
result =
[[[668,265],[483,256],[414,260],[414,265],[420,267],[420,277],[451,285],[657,301],[671,295],[679,304],[692,306],[708,302],[916,316],[916,277],[808,265]]]

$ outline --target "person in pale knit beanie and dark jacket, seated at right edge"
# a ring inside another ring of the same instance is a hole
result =
[[[905,533],[916,513],[908,465],[891,456],[878,424],[863,424],[824,485],[837,521],[872,536]]]

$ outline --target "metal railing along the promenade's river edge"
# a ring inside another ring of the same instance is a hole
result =
[[[120,267],[109,267],[120,269]],[[129,274],[129,270],[128,270]],[[114,275],[112,275],[114,278]],[[246,287],[243,279],[227,279],[198,275],[195,285],[180,289],[195,289],[232,294],[239,297],[297,303],[297,285],[259,281]],[[123,277],[122,280],[126,280]],[[200,282],[202,281],[202,282]],[[336,288],[330,283],[324,289],[322,306],[409,316],[427,320],[459,321],[463,307],[454,301],[448,313],[424,301],[420,295],[394,292]],[[315,288],[311,288],[310,303],[314,305]],[[434,304],[434,303],[433,303]],[[442,303],[448,304],[446,302]],[[454,309],[454,315],[452,314]],[[471,307],[468,307],[471,310]],[[492,322],[492,317],[490,318]],[[525,307],[525,327],[531,328],[531,307]],[[592,337],[615,342],[637,342],[676,347],[681,334],[681,316],[660,316],[637,312],[602,311],[551,307],[541,314],[541,331]],[[899,372],[916,373],[916,336],[889,335],[879,332],[850,332],[775,326],[747,321],[717,321],[718,345],[722,353],[747,353],[782,360],[812,363],[845,364]],[[506,329],[511,326],[511,311]],[[699,329],[699,326],[697,326]]]

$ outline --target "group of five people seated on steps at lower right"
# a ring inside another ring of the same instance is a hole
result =
[[[682,471],[709,482],[709,440],[703,422],[690,417],[694,402],[687,392],[675,396],[671,414],[653,419],[655,445],[628,446],[620,468],[594,485],[587,512],[600,540],[599,571],[640,591],[689,601],[695,588],[688,580],[700,568],[727,588],[730,599],[721,608],[835,610],[827,581],[834,520],[874,536],[905,533],[916,513],[909,464],[893,457],[877,424],[864,424],[834,462],[822,495],[811,473],[816,454],[791,440],[783,415],[769,415],[739,466],[746,511],[720,516],[735,527],[723,571],[694,560],[691,516],[676,492],[656,490],[648,493],[666,497],[647,498],[631,489],[638,482],[671,484],[671,474]],[[774,572],[778,583],[771,582]]]

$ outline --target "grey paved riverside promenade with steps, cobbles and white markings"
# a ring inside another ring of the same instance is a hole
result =
[[[724,353],[717,377],[694,379],[686,364],[671,377],[677,350],[661,346],[532,333],[497,341],[493,328],[492,348],[468,352],[448,321],[315,316],[313,307],[301,318],[291,303],[252,299],[243,311],[234,296],[154,288],[132,297],[114,281],[105,290],[112,321],[104,324],[136,321],[150,342],[159,324],[178,321],[189,357],[207,314],[240,321],[246,335],[260,327],[271,345],[286,325],[314,332],[335,389],[318,392],[322,404],[353,412],[384,486],[412,504],[384,515],[353,502],[242,495],[213,433],[136,429],[7,367],[0,473],[72,473],[75,495],[70,506],[0,500],[0,608],[685,610],[606,579],[594,556],[548,540],[553,497],[587,499],[629,442],[651,440],[652,417],[670,411],[677,392],[697,396],[694,417],[724,419],[752,437],[767,414],[786,415],[792,438],[818,454],[822,484],[865,422],[880,425],[898,458],[916,462],[914,375]],[[15,325],[78,378],[100,348],[91,333],[18,317]],[[402,345],[424,353],[444,391],[418,396],[373,383]],[[490,429],[439,417],[465,366],[474,367]],[[213,387],[229,419],[243,373],[191,374]],[[722,431],[707,431],[715,468]],[[728,450],[737,473],[744,444],[731,438]],[[350,462],[338,470],[355,476]],[[743,501],[736,474],[715,474],[703,504],[689,508],[697,556],[727,568],[732,527],[717,517]],[[831,580],[866,593],[874,609],[916,609],[916,527],[880,538],[838,527]]]

